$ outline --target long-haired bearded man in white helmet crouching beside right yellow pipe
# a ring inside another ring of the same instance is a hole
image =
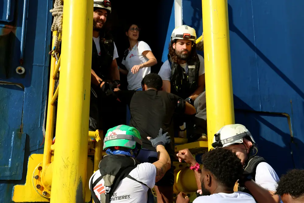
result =
[[[163,90],[173,93],[191,103],[196,109],[193,124],[187,125],[188,142],[193,142],[206,134],[206,94],[204,58],[196,53],[196,33],[187,25],[176,27],[171,35],[168,60],[159,71],[163,80]],[[185,118],[178,118],[180,124]]]

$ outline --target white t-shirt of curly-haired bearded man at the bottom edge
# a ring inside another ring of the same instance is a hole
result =
[[[227,193],[217,193],[206,196],[199,196],[193,203],[256,203],[254,198],[244,192],[234,192],[231,194]]]

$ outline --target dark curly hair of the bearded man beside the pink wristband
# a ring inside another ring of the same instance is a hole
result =
[[[210,171],[219,184],[233,188],[243,173],[241,160],[229,149],[216,148],[202,156],[204,170]]]

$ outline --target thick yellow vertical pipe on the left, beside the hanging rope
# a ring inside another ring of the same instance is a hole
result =
[[[92,17],[92,0],[64,0],[51,203],[85,200]]]

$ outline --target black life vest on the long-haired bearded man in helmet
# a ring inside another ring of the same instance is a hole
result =
[[[186,72],[178,63],[172,62],[168,54],[171,66],[171,93],[182,99],[186,99],[198,87],[200,61],[198,56],[196,58],[196,61],[192,59],[188,61],[188,72]]]

